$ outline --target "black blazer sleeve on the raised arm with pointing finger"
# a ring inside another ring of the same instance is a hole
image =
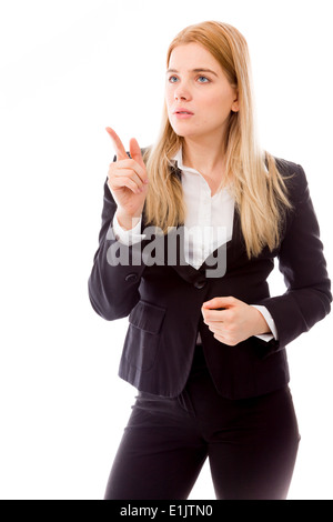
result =
[[[105,181],[99,249],[88,291],[92,308],[108,321],[129,315],[140,299],[139,285],[144,270],[142,242],[127,245],[118,241],[113,232],[115,210],[117,203]]]

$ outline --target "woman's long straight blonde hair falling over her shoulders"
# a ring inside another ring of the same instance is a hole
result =
[[[290,203],[274,158],[258,144],[248,44],[232,26],[216,21],[198,23],[183,29],[171,42],[167,67],[176,46],[192,42],[211,52],[238,90],[240,109],[231,112],[225,132],[226,168],[221,188],[232,187],[248,257],[259,255],[265,245],[270,250],[279,245],[284,211]],[[185,219],[181,181],[171,162],[182,143],[183,138],[169,122],[164,102],[160,137],[144,158],[150,179],[145,218],[164,233],[169,227],[183,224]]]

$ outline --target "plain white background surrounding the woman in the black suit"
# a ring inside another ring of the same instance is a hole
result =
[[[128,320],[92,310],[113,150],[157,135],[167,48],[215,19],[245,36],[262,145],[307,174],[332,274],[330,0],[1,0],[1,499],[101,499],[135,390]],[[284,291],[272,278],[273,293]],[[290,499],[333,499],[332,318],[289,347],[302,442]],[[213,499],[205,465],[191,499]]]

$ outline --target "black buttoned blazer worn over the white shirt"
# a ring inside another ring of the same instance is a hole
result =
[[[117,210],[104,184],[99,249],[89,278],[89,297],[95,312],[107,320],[129,315],[119,375],[140,391],[176,396],[185,385],[200,331],[206,363],[223,396],[243,399],[264,394],[289,382],[285,347],[323,319],[331,308],[331,282],[315,212],[302,167],[276,160],[285,177],[293,210],[287,212],[280,247],[249,260],[234,212],[232,240],[225,249],[223,277],[206,277],[211,257],[199,270],[180,254],[172,265],[164,259],[149,265],[141,255],[149,239],[120,245],[111,222]],[[172,175],[181,175],[173,169]],[[145,227],[144,212],[142,230]],[[120,248],[127,264],[110,265],[112,248]],[[109,250],[111,248],[111,250]],[[216,255],[218,250],[212,254]],[[140,259],[141,258],[141,259]],[[270,297],[268,275],[274,259],[284,275],[286,292]],[[256,337],[229,347],[203,323],[201,307],[214,297],[233,295],[249,304],[263,304],[275,321],[279,341]]]

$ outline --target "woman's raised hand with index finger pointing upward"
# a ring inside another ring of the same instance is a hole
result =
[[[138,141],[130,140],[130,154],[113,129],[107,127],[114,150],[117,161],[109,167],[108,185],[117,203],[117,219],[124,229],[132,229],[141,217],[147,192],[148,175]]]

